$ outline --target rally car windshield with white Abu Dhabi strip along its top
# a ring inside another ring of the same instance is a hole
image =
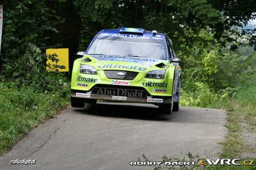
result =
[[[143,35],[102,33],[95,38],[86,54],[166,59],[163,38]]]

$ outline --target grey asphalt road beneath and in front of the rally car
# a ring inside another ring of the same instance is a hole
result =
[[[68,107],[29,132],[0,157],[0,169],[153,169],[132,160],[184,158],[189,152],[218,158],[227,115],[218,109],[181,107],[168,115],[150,104],[99,103]],[[10,165],[11,160],[34,165]],[[186,158],[188,159],[188,158]]]

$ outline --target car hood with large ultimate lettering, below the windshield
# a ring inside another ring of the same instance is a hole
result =
[[[146,72],[149,68],[166,69],[168,61],[132,56],[84,55],[84,62],[92,61],[97,70],[130,70]]]

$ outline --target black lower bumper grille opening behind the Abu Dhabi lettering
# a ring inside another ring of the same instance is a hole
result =
[[[92,94],[137,98],[147,98],[148,96],[148,93],[144,88],[113,85],[96,85],[92,89]]]

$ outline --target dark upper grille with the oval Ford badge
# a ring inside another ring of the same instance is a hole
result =
[[[138,75],[138,72],[120,70],[105,70],[104,72],[109,79],[133,80]],[[120,75],[118,75],[118,73]],[[124,75],[122,75],[122,73],[124,73]]]

